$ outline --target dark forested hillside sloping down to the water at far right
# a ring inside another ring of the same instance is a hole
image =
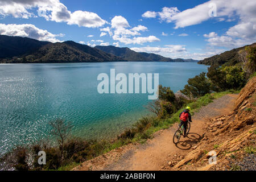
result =
[[[256,43],[251,44],[250,46],[256,45]],[[221,53],[220,55],[215,55],[212,57],[205,58],[204,60],[199,61],[199,64],[205,65],[236,65],[239,63],[239,54],[238,52],[244,47],[232,49],[230,51],[226,51]]]

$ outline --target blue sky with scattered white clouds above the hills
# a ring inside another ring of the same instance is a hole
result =
[[[256,2],[1,0],[0,34],[204,59],[256,42]]]

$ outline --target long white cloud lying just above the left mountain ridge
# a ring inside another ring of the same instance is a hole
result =
[[[49,42],[60,42],[56,39],[58,36],[63,34],[52,34],[47,30],[42,30],[34,26],[34,24],[2,24],[0,23],[0,34],[9,36],[22,36],[32,39],[49,41]]]

